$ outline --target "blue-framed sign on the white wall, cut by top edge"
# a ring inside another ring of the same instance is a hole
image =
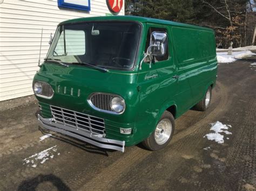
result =
[[[91,10],[90,0],[58,0],[61,8],[78,9],[83,11]]]

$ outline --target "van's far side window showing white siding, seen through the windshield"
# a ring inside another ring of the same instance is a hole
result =
[[[85,32],[77,30],[65,30],[66,55],[85,54]],[[60,34],[58,44],[53,55],[64,55],[64,32]]]

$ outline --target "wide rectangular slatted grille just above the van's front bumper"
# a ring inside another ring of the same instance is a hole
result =
[[[82,114],[51,105],[51,113],[56,123],[83,129],[89,133],[105,134],[104,119]]]

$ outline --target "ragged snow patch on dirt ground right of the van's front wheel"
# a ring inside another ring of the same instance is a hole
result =
[[[231,125],[225,125],[217,121],[216,123],[211,124],[211,131],[213,133],[208,133],[204,137],[207,137],[208,140],[215,140],[217,143],[224,143],[224,135],[221,135],[221,132],[224,132],[226,135],[231,135],[232,133],[227,131],[228,128],[231,128]]]

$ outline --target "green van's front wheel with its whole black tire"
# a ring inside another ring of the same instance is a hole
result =
[[[172,139],[175,128],[174,117],[169,111],[165,111],[157,123],[156,129],[150,137],[144,140],[143,145],[151,151],[159,151]]]

